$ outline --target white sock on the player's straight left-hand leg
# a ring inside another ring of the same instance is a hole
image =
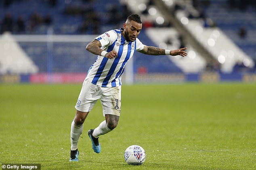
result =
[[[83,124],[76,125],[74,121],[71,123],[70,131],[70,141],[71,141],[71,150],[76,150],[78,148],[78,139],[83,132]]]

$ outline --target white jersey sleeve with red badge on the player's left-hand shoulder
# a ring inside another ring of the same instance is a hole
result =
[[[101,47],[103,48],[104,46],[111,45],[117,39],[117,37],[118,37],[117,33],[115,33],[115,31],[111,30],[111,31],[107,31],[107,32],[99,35],[95,39],[100,41]]]

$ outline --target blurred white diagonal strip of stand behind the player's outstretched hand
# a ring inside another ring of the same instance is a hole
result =
[[[170,60],[174,65],[178,66],[178,68],[183,73],[199,73],[206,69],[206,61],[199,53],[196,53],[195,49],[188,44],[183,42],[183,37],[176,31],[174,27],[169,24],[169,21],[166,17],[157,9],[157,7],[148,0],[137,0],[132,3],[128,0],[124,0],[124,3],[127,3],[128,8],[133,10],[135,13],[141,14],[143,20],[146,20],[148,23],[152,23],[151,27],[146,27],[145,32],[147,36],[153,41],[154,45],[157,47],[162,47],[164,49],[178,49],[181,47],[188,47],[188,57],[172,57],[170,56],[168,60]],[[149,12],[143,12],[143,4],[146,7],[146,10]],[[155,11],[155,14],[150,14],[150,11]],[[157,23],[159,21],[162,23]],[[147,25],[146,25],[147,26]],[[160,58],[161,59],[161,58]],[[170,63],[168,62],[168,64]],[[167,61],[164,61],[167,62]],[[164,63],[163,62],[163,63]],[[169,64],[170,67],[170,64]],[[174,68],[172,66],[172,68]],[[163,70],[170,70],[168,67]],[[172,70],[175,72],[175,70]],[[178,71],[176,71],[178,72]]]

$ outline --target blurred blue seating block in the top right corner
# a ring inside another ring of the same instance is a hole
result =
[[[238,7],[235,6],[236,1],[233,1],[233,4],[229,4],[229,2],[229,0],[211,0],[208,6],[204,6],[206,15],[212,18],[216,25],[245,53],[255,59],[256,6],[254,4],[243,7],[242,4],[239,4]],[[243,1],[242,3],[246,5],[247,2]],[[245,37],[239,36],[241,28],[246,29]]]

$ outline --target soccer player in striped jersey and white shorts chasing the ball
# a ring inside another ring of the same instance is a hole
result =
[[[98,99],[101,100],[105,120],[88,131],[94,152],[101,152],[99,136],[117,127],[121,111],[121,78],[127,61],[135,51],[148,55],[187,56],[184,51],[187,48],[167,50],[144,45],[137,38],[141,29],[140,16],[132,14],[128,16],[124,28],[107,31],[86,46],[86,50],[98,56],[88,70],[75,106],[69,161],[78,161],[78,139],[83,131],[83,123]]]

